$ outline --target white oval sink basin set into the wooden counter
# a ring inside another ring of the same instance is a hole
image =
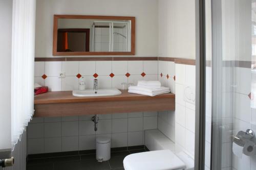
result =
[[[119,95],[122,92],[116,88],[102,88],[98,89],[97,93],[93,89],[87,90],[73,90],[73,95],[78,97],[93,97],[93,96],[111,96],[111,95]]]

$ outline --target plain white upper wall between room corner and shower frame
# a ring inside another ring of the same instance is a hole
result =
[[[195,1],[159,0],[159,57],[196,55]]]

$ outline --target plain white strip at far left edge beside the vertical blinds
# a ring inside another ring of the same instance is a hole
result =
[[[0,1],[0,150],[11,148],[12,1]],[[4,130],[4,131],[3,131]]]

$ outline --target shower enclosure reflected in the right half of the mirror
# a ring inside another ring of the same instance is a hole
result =
[[[92,52],[131,52],[131,20],[94,21],[91,31]]]

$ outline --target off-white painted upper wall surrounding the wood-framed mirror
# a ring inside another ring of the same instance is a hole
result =
[[[158,55],[157,0],[37,0],[35,57],[52,57],[53,15],[136,17],[136,56]]]

